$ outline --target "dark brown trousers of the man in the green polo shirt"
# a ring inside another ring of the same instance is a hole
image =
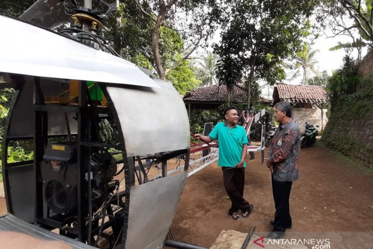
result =
[[[223,182],[225,190],[232,202],[228,211],[229,215],[238,210],[246,211],[250,208],[250,203],[244,199],[245,168],[222,167]]]

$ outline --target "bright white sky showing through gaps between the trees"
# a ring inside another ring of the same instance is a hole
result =
[[[213,43],[219,43],[220,32],[221,30],[217,30],[215,32],[213,39],[210,41],[210,45],[212,45]],[[333,37],[333,38],[327,38],[327,36],[333,35],[332,31],[328,29],[324,30],[322,33],[325,33],[325,34],[321,35],[319,38],[314,40],[314,44],[311,47],[312,50],[316,50],[316,49],[320,50],[320,52],[317,53],[317,55],[315,56],[315,59],[318,61],[318,63],[315,66],[315,69],[319,72],[326,70],[329,75],[332,75],[332,71],[338,69],[342,65],[343,63],[342,58],[346,55],[346,52],[343,49],[336,50],[336,51],[329,51],[329,49],[331,47],[338,45],[339,41],[341,43],[352,42],[352,38],[346,35],[337,35],[336,37]],[[356,37],[358,37],[358,35],[356,35]],[[209,50],[212,51],[211,46]],[[204,51],[205,50],[203,49],[198,49],[197,50],[198,54],[195,53],[194,55],[196,56],[203,55]],[[362,56],[366,55],[366,53],[367,53],[367,49],[363,49]],[[356,50],[354,50],[354,52],[352,53],[352,56],[355,58],[357,57]],[[296,70],[286,71],[287,78],[291,78],[291,76],[294,74],[295,71]],[[301,75],[302,74],[303,74],[303,71],[301,71]],[[297,84],[300,84],[301,81],[302,81],[302,76],[292,81],[284,80],[283,83],[297,85]],[[266,83],[261,82],[260,84],[263,85],[262,96],[266,98],[269,97],[270,99],[272,99],[273,87],[269,89],[269,96],[268,96],[268,88],[266,87]]]

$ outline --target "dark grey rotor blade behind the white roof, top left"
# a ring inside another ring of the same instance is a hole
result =
[[[66,15],[62,2],[61,0],[38,0],[19,18],[45,28],[54,29],[71,21],[71,16]]]

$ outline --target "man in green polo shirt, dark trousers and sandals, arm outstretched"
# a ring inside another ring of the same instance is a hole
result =
[[[254,205],[244,199],[245,184],[245,158],[247,153],[247,136],[245,129],[237,125],[238,112],[233,107],[224,111],[225,122],[217,123],[209,136],[195,134],[195,137],[204,143],[219,140],[219,161],[217,165],[222,167],[223,181],[232,206],[228,214],[233,220],[239,218],[238,210],[242,211],[242,217],[249,216]]]

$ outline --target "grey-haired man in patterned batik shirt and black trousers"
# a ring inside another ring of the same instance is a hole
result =
[[[275,220],[271,220],[273,230],[267,235],[270,239],[279,239],[285,230],[291,228],[289,196],[293,181],[298,180],[300,155],[300,130],[291,119],[291,106],[288,102],[275,105],[275,118],[279,122],[273,135],[267,167],[272,172],[272,192],[275,200]]]

